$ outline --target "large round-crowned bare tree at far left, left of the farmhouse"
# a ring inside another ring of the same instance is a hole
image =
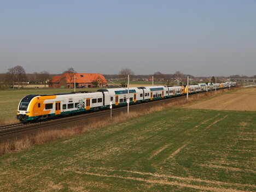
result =
[[[8,69],[7,74],[9,74],[9,78],[13,81],[13,88],[14,82],[18,82],[18,88],[20,88],[20,83],[26,80],[26,72],[23,67],[17,65],[16,67]]]

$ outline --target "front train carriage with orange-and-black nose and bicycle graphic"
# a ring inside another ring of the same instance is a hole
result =
[[[100,109],[104,106],[100,92],[76,92],[50,95],[27,95],[19,104],[20,121],[45,119],[69,113]]]

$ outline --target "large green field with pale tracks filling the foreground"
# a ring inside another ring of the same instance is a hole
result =
[[[170,108],[0,157],[0,191],[255,191],[255,112]]]

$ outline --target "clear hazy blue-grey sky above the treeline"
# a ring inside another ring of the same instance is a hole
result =
[[[255,0],[0,0],[0,73],[256,75]]]

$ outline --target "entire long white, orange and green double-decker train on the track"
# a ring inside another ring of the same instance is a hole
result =
[[[236,86],[235,82],[199,83],[188,86],[151,86],[99,89],[97,92],[72,92],[49,95],[27,95],[22,98],[17,112],[21,122],[43,120],[50,117],[67,115],[77,112],[108,109],[110,105],[143,103],[153,100],[178,97],[213,89]]]

